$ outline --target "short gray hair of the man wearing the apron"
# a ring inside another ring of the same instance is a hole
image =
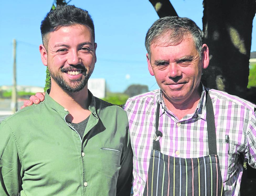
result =
[[[204,37],[204,33],[193,20],[178,16],[167,16],[158,19],[148,29],[145,38],[145,46],[148,52],[149,60],[151,60],[150,46],[152,44],[162,42],[166,43],[167,45],[177,45],[188,36],[192,36],[201,60],[203,45],[202,39]]]

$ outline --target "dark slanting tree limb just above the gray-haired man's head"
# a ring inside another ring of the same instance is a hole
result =
[[[155,8],[159,18],[162,18],[165,16],[178,16],[177,12],[175,11],[174,7],[172,6],[169,0],[149,0],[149,1]]]

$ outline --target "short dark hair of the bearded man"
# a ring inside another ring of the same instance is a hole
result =
[[[95,42],[94,24],[88,11],[77,8],[74,5],[58,5],[56,9],[47,13],[44,20],[41,22],[40,30],[43,45],[47,49],[49,41],[48,35],[52,30],[57,30],[60,27],[67,27],[76,24],[89,27]]]

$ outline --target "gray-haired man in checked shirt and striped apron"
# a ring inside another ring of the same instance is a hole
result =
[[[202,38],[180,17],[147,32],[148,70],[160,89],[125,104],[136,196],[239,195],[241,160],[256,168],[255,105],[200,83],[209,65]]]

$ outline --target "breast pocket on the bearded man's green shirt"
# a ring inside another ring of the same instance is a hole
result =
[[[122,152],[112,147],[100,147],[98,153],[97,168],[108,177],[118,177]]]

